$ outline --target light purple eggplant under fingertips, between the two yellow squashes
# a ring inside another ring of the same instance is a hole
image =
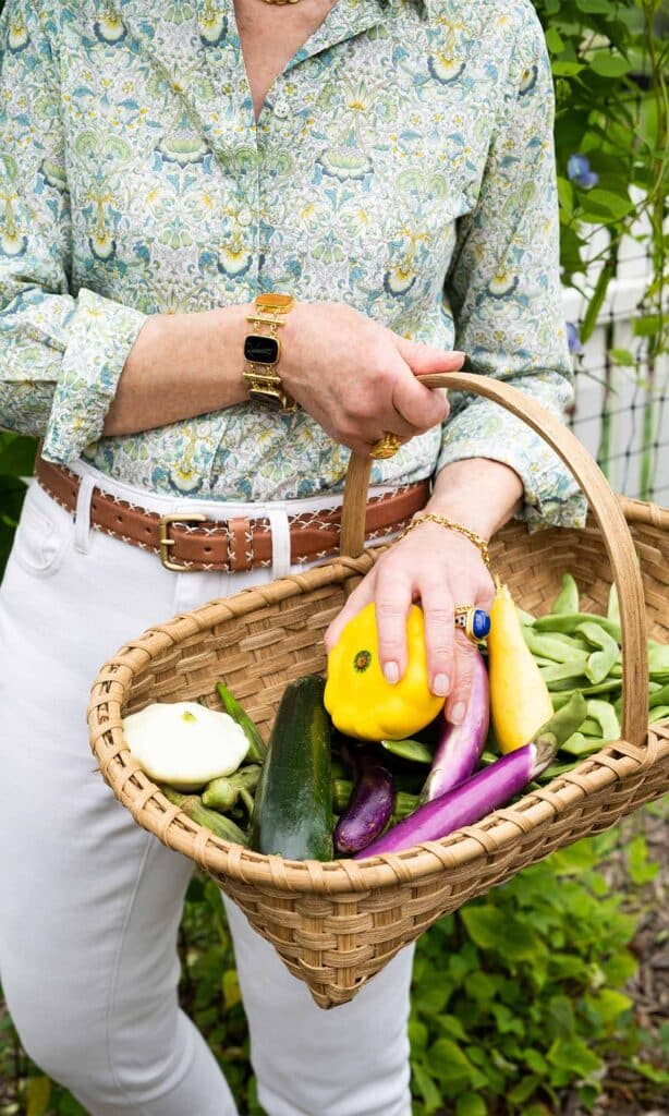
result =
[[[439,798],[469,778],[481,759],[486,741],[489,710],[487,671],[481,652],[476,651],[465,720],[462,724],[450,724],[445,713],[439,713],[439,740],[430,772],[420,793],[421,802]]]

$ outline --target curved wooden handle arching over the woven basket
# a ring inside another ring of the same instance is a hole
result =
[[[646,603],[634,543],[624,516],[599,465],[579,440],[549,411],[508,384],[489,376],[449,372],[420,376],[426,387],[473,392],[500,403],[532,427],[564,461],[588,498],[600,526],[613,571],[622,632],[622,735],[642,747],[648,733],[648,650]],[[371,459],[352,454],[341,510],[341,554],[357,558],[365,547],[365,509]]]

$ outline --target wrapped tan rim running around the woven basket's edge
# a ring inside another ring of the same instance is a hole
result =
[[[619,499],[626,517],[629,514],[631,521],[669,529],[669,509]],[[463,827],[438,841],[426,841],[401,853],[360,860],[289,860],[265,856],[224,841],[192,821],[178,807],[168,802],[143,772],[125,742],[122,706],[136,671],[190,636],[256,610],[259,597],[268,605],[275,604],[341,583],[351,575],[365,574],[384,549],[374,548],[374,554],[366,551],[359,558],[340,556],[303,574],[289,575],[201,605],[165,624],[148,628],[103,665],[90,691],[90,747],[99,761],[103,777],[140,826],[155,834],[163,844],[190,856],[205,870],[230,879],[261,884],[282,893],[361,893],[398,883],[417,883],[445,868],[473,863],[482,857],[498,858],[504,850],[511,856],[518,830],[522,834],[542,830],[562,814],[578,807],[580,801],[595,795],[603,796],[607,788],[617,781],[643,777],[656,763],[669,757],[669,720],[655,722],[648,727],[644,745],[639,747],[623,739],[608,743],[570,771],[556,776],[546,787],[523,796],[513,807],[495,810],[477,824]]]

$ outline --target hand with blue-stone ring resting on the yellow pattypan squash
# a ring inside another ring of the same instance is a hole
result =
[[[351,593],[324,635],[326,650],[342,628],[376,603],[379,655],[389,682],[407,665],[406,620],[414,602],[425,615],[427,668],[433,693],[447,695],[446,716],[463,720],[474,670],[475,646],[454,627],[455,605],[489,609],[494,585],[478,548],[466,537],[426,520],[387,550]]]

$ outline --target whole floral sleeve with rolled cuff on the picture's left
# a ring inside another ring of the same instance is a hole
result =
[[[19,32],[21,49],[12,50]],[[0,37],[0,425],[43,437],[43,456],[67,464],[99,439],[146,315],[85,287],[70,290],[58,61],[30,0],[10,0]]]

